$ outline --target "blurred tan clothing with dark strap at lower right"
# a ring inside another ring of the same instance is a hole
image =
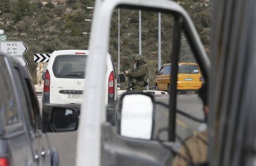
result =
[[[195,164],[207,161],[207,131],[187,138],[175,156],[172,166],[188,166],[189,161]]]

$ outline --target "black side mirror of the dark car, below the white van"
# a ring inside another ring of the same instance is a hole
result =
[[[50,112],[49,125],[52,131],[67,132],[77,130],[79,115],[76,110],[53,107]]]

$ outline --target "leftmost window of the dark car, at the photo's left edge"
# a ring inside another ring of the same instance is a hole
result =
[[[5,57],[0,56],[0,90],[1,90],[1,114],[7,126],[18,124],[20,116],[18,112],[18,101],[16,101],[15,90],[12,84]]]

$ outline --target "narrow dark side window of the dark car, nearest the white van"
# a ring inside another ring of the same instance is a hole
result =
[[[14,67],[14,76],[16,79],[19,80],[18,81],[19,83],[17,83],[16,86],[20,90],[19,100],[22,103],[26,125],[30,126],[30,130],[34,131],[36,129],[36,122],[35,122],[34,111],[32,110],[32,107],[31,107],[31,100],[30,100],[30,97],[27,96],[26,93],[24,93],[25,91],[28,91],[28,90],[26,87],[24,87],[24,85],[22,85],[22,77],[20,76],[20,73],[16,67]]]

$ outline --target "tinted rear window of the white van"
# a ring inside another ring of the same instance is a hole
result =
[[[53,74],[56,78],[77,78],[85,76],[86,56],[64,55],[57,56],[53,63]]]

